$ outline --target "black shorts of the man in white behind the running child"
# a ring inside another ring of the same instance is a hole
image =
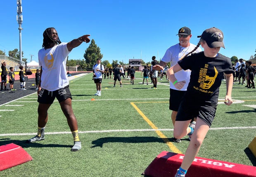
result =
[[[186,91],[170,89],[169,109],[178,112],[181,99]]]

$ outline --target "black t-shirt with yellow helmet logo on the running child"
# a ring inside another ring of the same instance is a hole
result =
[[[223,72],[225,74],[234,72],[231,59],[220,53],[216,57],[206,57],[203,51],[194,53],[178,61],[178,64],[184,70],[191,70],[187,94],[198,94],[202,97],[213,97],[214,95],[217,96],[217,100],[215,97],[216,101],[218,101]]]

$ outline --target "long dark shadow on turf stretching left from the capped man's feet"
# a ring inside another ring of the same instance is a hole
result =
[[[188,139],[182,139],[188,140]],[[102,147],[104,143],[166,143],[173,142],[173,138],[156,138],[153,136],[133,137],[105,137],[92,141],[93,147]]]

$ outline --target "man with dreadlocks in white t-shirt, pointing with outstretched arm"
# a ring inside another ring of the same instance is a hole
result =
[[[27,140],[27,143],[45,139],[45,125],[48,121],[47,110],[57,98],[73,135],[74,145],[71,151],[76,152],[82,148],[78,137],[77,120],[71,106],[72,96],[69,91],[69,80],[66,76],[66,60],[73,48],[83,42],[90,42],[89,36],[86,34],[68,43],[62,43],[55,28],[47,28],[43,32],[43,48],[38,52],[38,61],[41,66],[37,92],[39,103],[38,133],[35,137]]]

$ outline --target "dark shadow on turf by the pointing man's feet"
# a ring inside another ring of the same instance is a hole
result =
[[[40,143],[40,141],[38,143],[34,142],[34,143],[26,143],[26,140],[12,140],[10,138],[4,138],[4,139],[0,139],[0,146],[2,145],[7,145],[10,143],[14,143],[15,145],[19,145],[23,148],[27,148],[27,147],[36,147],[36,148],[40,148],[40,147],[72,147],[73,145],[59,145],[59,144],[46,144],[43,145]]]

